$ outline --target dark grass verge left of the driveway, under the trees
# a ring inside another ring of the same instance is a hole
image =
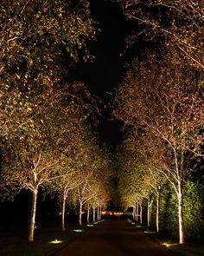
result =
[[[2,228],[1,228],[2,227]],[[82,226],[83,232],[87,226]],[[91,227],[92,228],[92,227]],[[66,246],[70,241],[80,236],[81,232],[74,232],[79,226],[74,224],[62,232],[60,223],[56,226],[50,223],[49,226],[41,226],[35,231],[35,241],[28,241],[27,227],[18,224],[6,223],[0,226],[0,255],[1,256],[51,256]],[[57,243],[51,243],[51,242]]]

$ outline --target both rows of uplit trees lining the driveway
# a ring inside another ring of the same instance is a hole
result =
[[[189,168],[201,167],[203,158],[203,5],[199,0],[114,2],[137,21],[128,45],[137,37],[157,45],[132,62],[116,92],[114,115],[127,128],[125,157],[137,160],[125,159],[120,191],[128,204],[137,199],[140,216],[142,200],[148,199],[149,209],[154,191],[159,230],[160,185],[169,181],[184,243],[183,188]],[[87,125],[94,102],[83,83],[67,83],[67,69],[91,57],[86,42],[96,31],[89,1],[2,1],[0,8],[2,196],[25,188],[32,192],[29,240],[34,240],[40,187],[61,195],[62,229],[70,190],[80,216],[86,203],[94,208],[107,201],[109,157]]]

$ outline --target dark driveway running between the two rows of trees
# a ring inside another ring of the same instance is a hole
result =
[[[105,220],[54,256],[172,256],[126,220]]]

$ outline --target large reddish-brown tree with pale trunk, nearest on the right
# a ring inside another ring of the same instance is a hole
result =
[[[163,49],[163,54],[149,52],[132,62],[117,90],[114,115],[127,127],[125,148],[137,153],[137,161],[128,161],[131,166],[124,168],[132,169],[135,197],[148,197],[152,187],[158,200],[161,181],[169,181],[178,201],[180,243],[184,243],[183,187],[188,169],[203,158],[203,74],[174,57]],[[144,181],[150,184],[147,190]]]

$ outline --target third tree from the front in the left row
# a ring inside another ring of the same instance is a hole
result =
[[[109,154],[90,131],[83,138],[80,152],[82,154],[79,175],[80,185],[73,194],[73,202],[79,207],[79,224],[82,225],[82,209],[90,204],[93,208],[99,206],[108,198],[108,185],[112,176],[109,168]],[[75,195],[75,196],[74,196]]]

